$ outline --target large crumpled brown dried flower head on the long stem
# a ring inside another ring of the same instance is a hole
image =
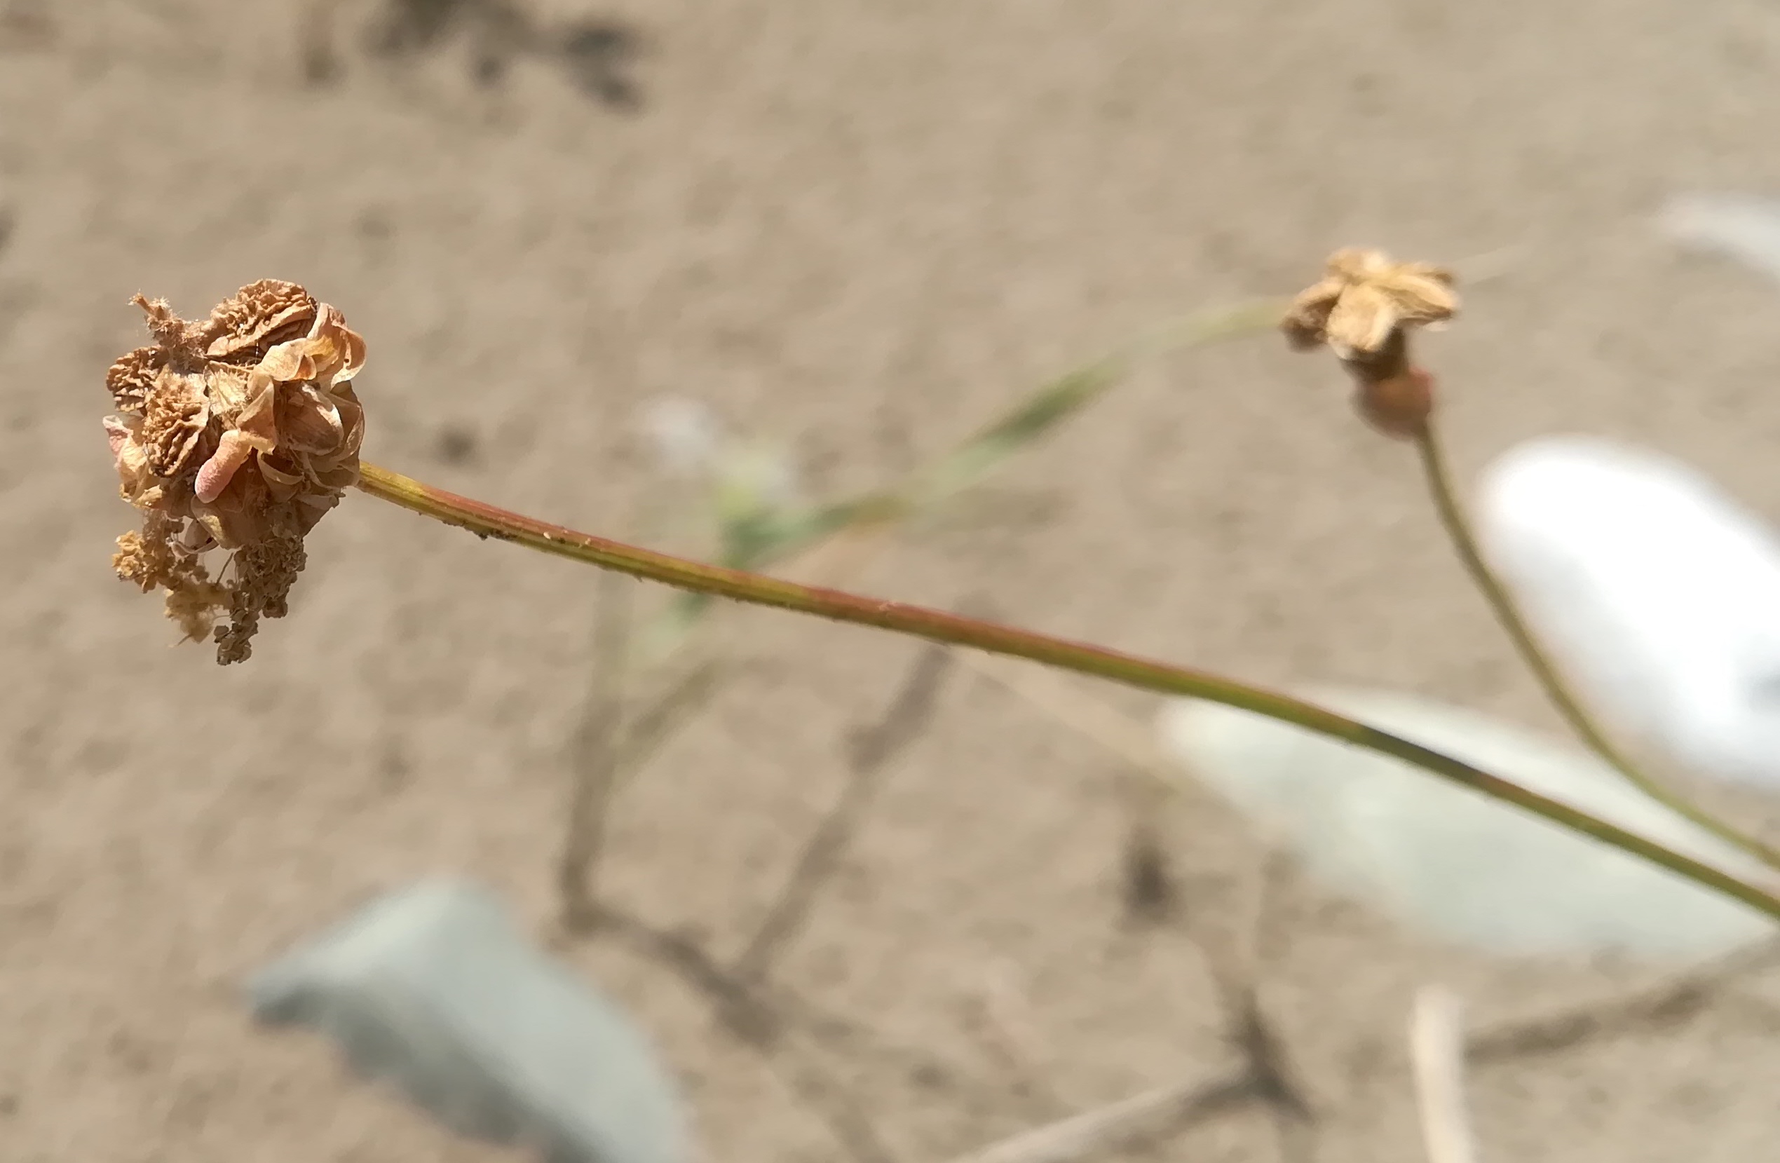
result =
[[[167,591],[187,638],[214,632],[219,663],[251,652],[260,618],[281,618],[303,538],[358,481],[365,410],[352,378],[365,340],[295,283],[242,287],[205,321],[135,296],[155,344],[105,376],[119,490],[142,511],[112,566]],[[205,554],[230,557],[215,575]],[[228,625],[215,625],[226,616]]]

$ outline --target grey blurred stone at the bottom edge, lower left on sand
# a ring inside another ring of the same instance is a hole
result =
[[[457,1131],[546,1163],[685,1163],[678,1088],[623,1013],[456,880],[372,901],[255,976],[255,1017],[329,1035]]]

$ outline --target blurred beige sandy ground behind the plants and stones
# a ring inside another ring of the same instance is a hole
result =
[[[591,671],[586,570],[368,499],[320,525],[251,663],[173,648],[107,568],[132,515],[101,374],[139,342],[137,290],[196,313],[253,278],[310,285],[368,337],[368,458],[616,531],[648,481],[632,419],[660,394],[789,442],[812,490],[865,486],[1141,328],[1294,290],[1331,246],[1515,248],[1429,346],[1460,463],[1586,427],[1780,516],[1780,296],[1646,223],[1673,191],[1780,185],[1771,5],[562,0],[523,11],[530,37],[465,5],[436,39],[427,7],[0,4],[7,1163],[506,1158],[351,1081],[319,1038],[256,1031],[239,987],[440,869],[546,933]],[[575,68],[545,52],[577,30]],[[1011,516],[910,538],[858,584],[1550,721],[1413,463],[1323,360],[1271,340],[1162,360],[1002,488]],[[773,613],[728,625],[760,666],[621,801],[605,869],[625,908],[719,956],[917,654]],[[1232,1051],[1185,926],[1228,915],[1258,853],[1187,801],[1177,917],[1134,926],[1118,773],[952,675],[778,974],[876,1031],[801,1067],[853,1122],[623,940],[570,956],[659,1037],[712,1159],[849,1158],[860,1118],[885,1158],[940,1159],[1214,1079]],[[1262,1001],[1326,1163],[1422,1158],[1419,983],[1488,1021],[1627,980],[1460,956],[1303,883],[1274,930]],[[1024,1065],[983,1033],[997,980]],[[1775,1152],[1775,1070],[1776,1024],[1718,1001],[1481,1065],[1470,1097],[1485,1159],[1746,1161]],[[1250,1106],[1134,1152],[1280,1145]]]

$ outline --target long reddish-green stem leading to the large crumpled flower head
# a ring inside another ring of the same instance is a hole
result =
[[[986,654],[1002,654],[1047,666],[1073,670],[1077,673],[1109,679],[1145,691],[1205,698],[1242,711],[1251,711],[1282,723],[1292,723],[1321,736],[1342,739],[1408,764],[1440,775],[1474,791],[1481,791],[1497,800],[1513,803],[1527,812],[1543,816],[1566,828],[1591,835],[1597,841],[1622,848],[1643,857],[1673,873],[1679,873],[1702,885],[1716,889],[1725,896],[1739,899],[1771,917],[1780,919],[1780,896],[1759,887],[1723,869],[1693,860],[1670,851],[1661,844],[1634,835],[1623,828],[1609,825],[1595,816],[1581,812],[1566,803],[1540,796],[1518,784],[1479,771],[1451,755],[1442,755],[1408,739],[1387,734],[1365,723],[1314,707],[1307,702],[1274,695],[1258,687],[1244,686],[1180,666],[1168,666],[1130,654],[1105,650],[1086,643],[1048,638],[1009,625],[965,618],[920,606],[867,598],[840,590],[801,586],[776,577],[726,570],[721,566],[685,561],[668,554],[657,554],[635,545],[575,533],[561,525],[550,525],[530,516],[509,513],[481,500],[457,497],[443,490],[422,484],[420,481],[379,468],[361,465],[360,488],[372,497],[381,497],[422,516],[441,520],[449,525],[468,529],[482,538],[500,538],[545,554],[570,557],[605,570],[618,570],[632,577],[657,581],[692,593],[708,593],[721,598],[748,602],[753,606],[771,606],[801,614],[815,614],[835,622],[869,625],[895,634],[908,634],[927,641],[968,647]]]

